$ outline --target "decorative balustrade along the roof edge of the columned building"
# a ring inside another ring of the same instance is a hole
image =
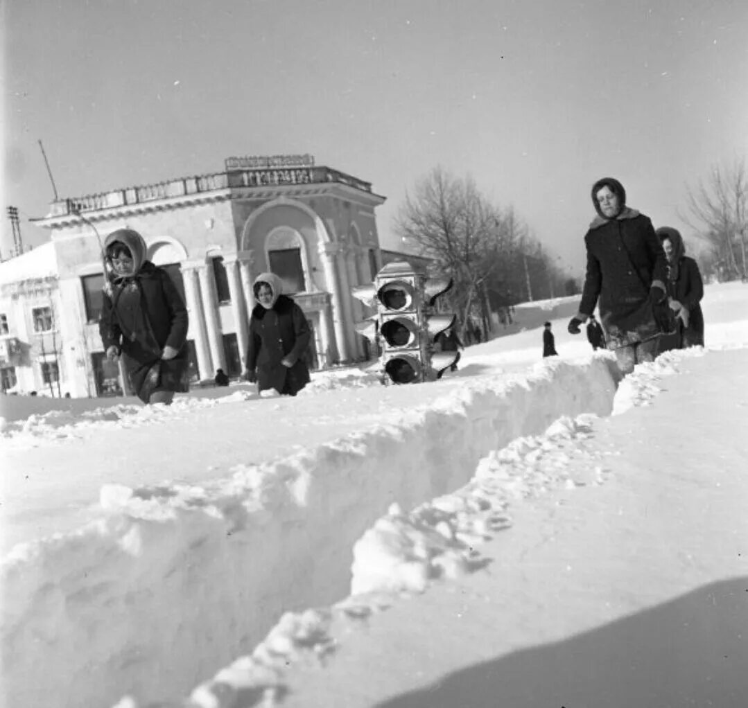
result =
[[[169,182],[128,187],[83,197],[58,200],[52,203],[49,216],[75,215],[117,206],[144,204],[156,200],[207,194],[226,188],[310,185],[338,182],[361,191],[372,191],[370,182],[356,179],[330,167],[288,167],[251,170],[229,170],[200,176],[183,177]]]

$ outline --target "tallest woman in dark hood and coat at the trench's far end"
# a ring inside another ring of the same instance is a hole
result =
[[[580,332],[598,304],[607,348],[624,374],[654,360],[660,333],[670,331],[666,300],[666,261],[652,221],[626,206],[626,192],[612,177],[592,185],[598,216],[584,237],[587,269],[582,300],[568,323]]]

